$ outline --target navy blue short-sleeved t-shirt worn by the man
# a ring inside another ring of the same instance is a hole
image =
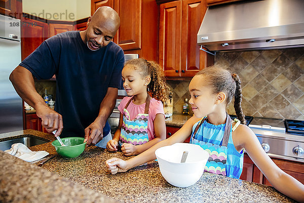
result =
[[[91,51],[79,31],[60,33],[43,42],[20,66],[37,79],[56,75],[55,111],[62,115],[61,137],[83,137],[97,118],[107,88],[120,88],[125,58],[115,43]],[[108,122],[103,136],[110,131]]]

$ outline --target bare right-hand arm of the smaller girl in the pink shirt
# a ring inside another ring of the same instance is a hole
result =
[[[154,131],[155,131],[155,138],[153,140],[150,140],[149,142],[142,144],[142,145],[136,145],[135,147],[135,153],[130,155],[137,155],[145,150],[149,149],[156,143],[159,143],[162,140],[166,139],[166,122],[165,122],[165,116],[163,114],[156,114],[155,119],[153,121],[154,124]],[[129,154],[125,154],[129,155]]]

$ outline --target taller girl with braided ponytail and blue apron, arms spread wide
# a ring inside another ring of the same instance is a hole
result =
[[[112,174],[126,172],[155,159],[158,148],[184,142],[190,136],[190,143],[200,145],[210,154],[205,171],[239,179],[246,150],[277,190],[297,201],[304,201],[304,185],[283,172],[264,152],[254,132],[244,125],[246,121],[241,108],[241,81],[238,75],[218,65],[207,67],[191,80],[189,92],[194,116],[173,136],[127,161],[108,159],[105,162],[107,169]],[[226,107],[233,96],[238,119],[232,121]]]

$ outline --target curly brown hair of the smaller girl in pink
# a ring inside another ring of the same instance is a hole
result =
[[[155,61],[147,61],[143,58],[136,58],[126,62],[125,65],[132,65],[135,70],[139,70],[142,77],[151,77],[147,86],[147,92],[153,98],[166,101],[169,95],[169,87],[166,83],[165,75],[160,64]]]

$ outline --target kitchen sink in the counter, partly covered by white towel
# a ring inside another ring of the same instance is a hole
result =
[[[45,140],[42,140],[39,138],[33,138],[33,137],[16,138],[13,140],[7,140],[7,141],[0,142],[0,150],[5,151],[8,149],[11,149],[12,145],[15,143],[22,143],[26,147],[32,147],[32,146],[41,145],[41,144],[44,144],[47,142],[49,142],[49,141],[45,141]]]

